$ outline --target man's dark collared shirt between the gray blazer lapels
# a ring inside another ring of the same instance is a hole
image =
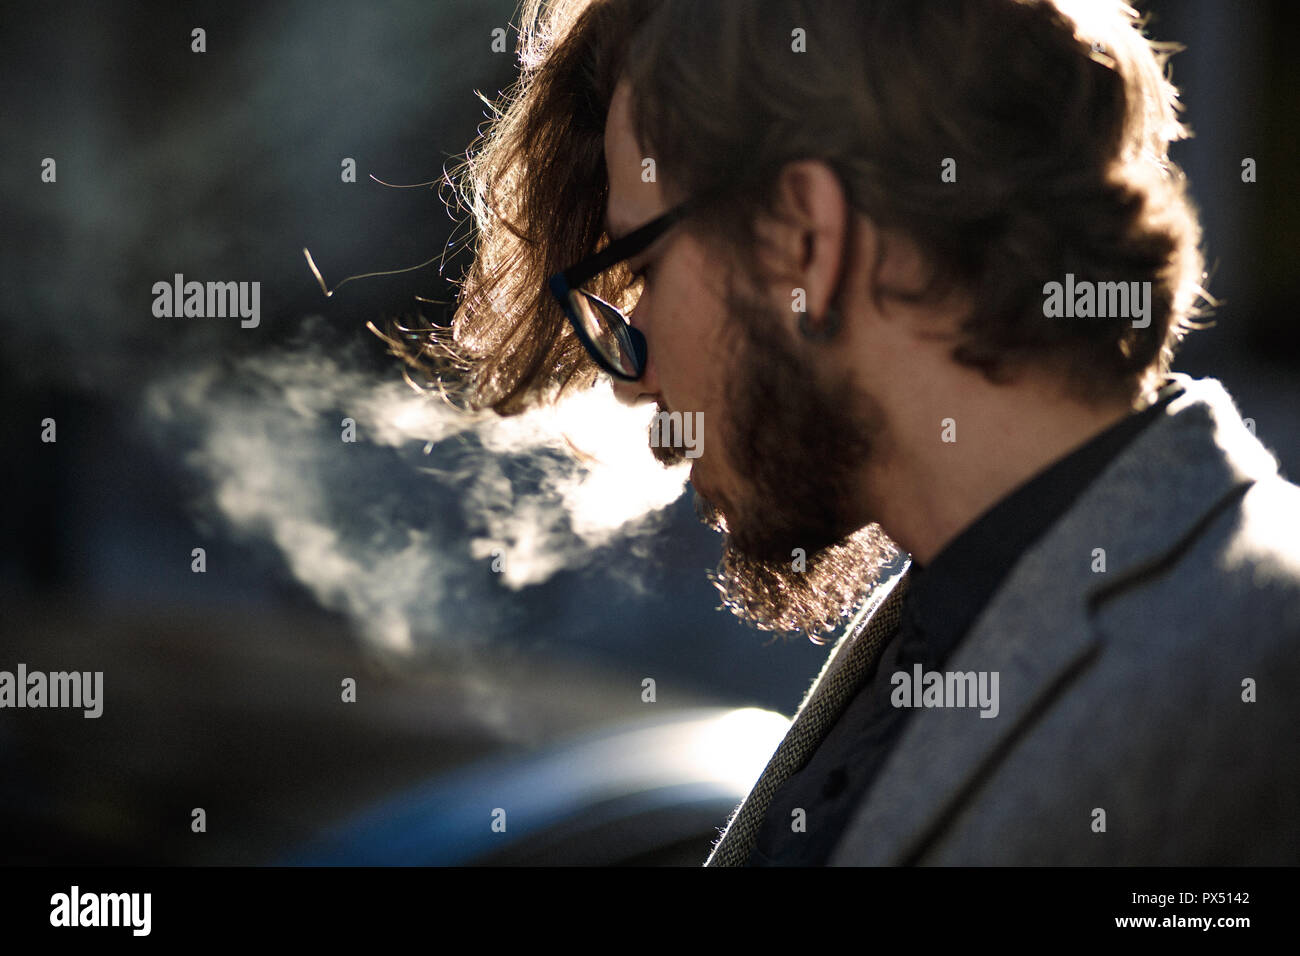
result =
[[[822,866],[889,756],[913,708],[890,704],[896,671],[940,670],[1023,554],[1160,410],[1180,394],[1167,384],[1127,416],[993,505],[927,567],[915,562],[898,631],[809,761],[772,795],[750,866]],[[805,831],[792,826],[805,810]]]

